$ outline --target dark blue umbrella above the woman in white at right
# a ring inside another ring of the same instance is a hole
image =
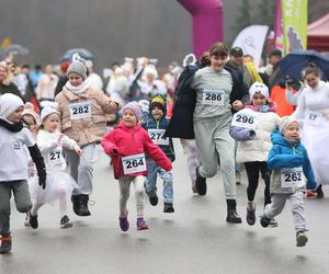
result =
[[[302,80],[302,71],[310,62],[315,64],[322,71],[324,80],[329,79],[329,59],[315,50],[291,53],[283,57],[277,62],[277,66],[283,73]]]

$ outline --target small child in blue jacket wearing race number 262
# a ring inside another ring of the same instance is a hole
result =
[[[269,153],[268,165],[273,170],[271,182],[272,203],[268,204],[261,216],[261,226],[268,227],[271,218],[279,215],[285,202],[292,204],[297,247],[308,241],[305,231],[304,208],[305,174],[307,187],[315,189],[316,182],[305,147],[299,141],[299,124],[296,118],[285,116],[280,123],[280,133],[272,134],[273,147]]]

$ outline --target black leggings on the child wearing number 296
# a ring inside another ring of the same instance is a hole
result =
[[[268,169],[268,163],[245,162],[245,167],[248,175],[248,187],[247,187],[248,201],[251,202],[254,199],[254,194],[258,187],[259,172],[261,172],[262,179],[265,182],[264,205],[270,204],[271,203],[271,195],[270,195],[271,171]]]

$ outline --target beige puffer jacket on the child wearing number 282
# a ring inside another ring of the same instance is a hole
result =
[[[58,102],[61,132],[78,142],[80,147],[100,141],[105,134],[105,114],[116,113],[118,109],[110,106],[110,98],[99,90],[88,89],[81,94],[73,94],[66,87],[55,98]],[[91,117],[71,119],[70,105],[90,103]]]

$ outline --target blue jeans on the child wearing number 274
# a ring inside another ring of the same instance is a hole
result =
[[[154,160],[147,160],[148,175],[145,183],[145,191],[149,197],[157,195],[157,175],[163,181],[163,202],[172,203],[172,173],[160,168]]]

